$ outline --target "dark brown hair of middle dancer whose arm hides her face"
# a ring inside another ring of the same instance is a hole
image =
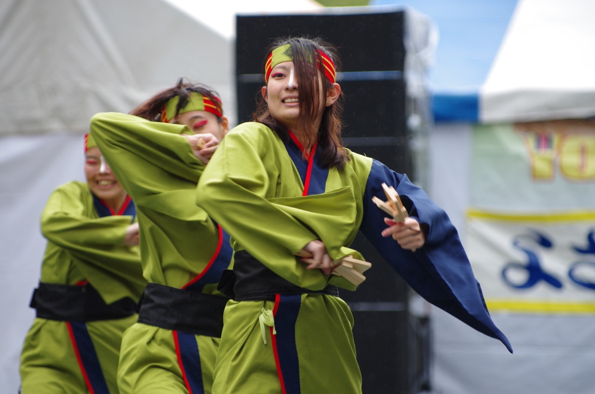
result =
[[[192,92],[201,93],[201,95],[211,99],[213,104],[223,114],[223,107],[221,105],[220,99],[218,98],[219,95],[217,92],[215,92],[215,90],[206,85],[202,85],[202,83],[190,83],[189,81],[184,80],[184,77],[181,77],[178,80],[176,86],[161,90],[161,92],[152,96],[138,107],[130,111],[130,114],[145,118],[146,120],[160,122],[161,111],[163,111],[164,105],[174,97],[179,96],[180,99],[178,100],[176,113],[174,114],[174,117],[176,117],[179,115],[180,110],[188,103],[188,98]],[[223,118],[217,117],[217,120],[219,123],[221,123]]]

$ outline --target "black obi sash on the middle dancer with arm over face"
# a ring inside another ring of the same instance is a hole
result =
[[[149,283],[140,302],[138,322],[220,338],[227,301],[226,297]]]

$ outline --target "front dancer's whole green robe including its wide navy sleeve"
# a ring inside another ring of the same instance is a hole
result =
[[[333,259],[360,258],[349,249],[358,231],[420,295],[510,346],[489,317],[444,211],[404,174],[372,158],[347,150],[349,161],[338,170],[321,165],[320,154],[320,146],[304,154],[291,135],[282,139],[264,124],[243,123],[202,174],[197,204],[227,229],[235,251],[236,301],[224,313],[214,392],[361,393],[353,317],[328,290],[354,286],[296,258],[316,239]],[[384,212],[372,196],[386,199],[382,183],[397,190],[427,229],[415,252],[381,236]]]

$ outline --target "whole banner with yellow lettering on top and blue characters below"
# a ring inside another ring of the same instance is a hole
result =
[[[477,126],[467,251],[490,311],[595,313],[595,126]]]

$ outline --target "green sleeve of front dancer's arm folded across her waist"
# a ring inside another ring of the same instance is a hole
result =
[[[236,243],[234,250],[246,249],[292,283],[322,289],[328,276],[320,270],[302,269],[305,264],[295,257],[308,242],[318,239],[317,234],[269,201],[277,197],[275,151],[279,149],[268,127],[258,123],[237,126],[206,167],[196,192],[197,204],[226,229]]]

